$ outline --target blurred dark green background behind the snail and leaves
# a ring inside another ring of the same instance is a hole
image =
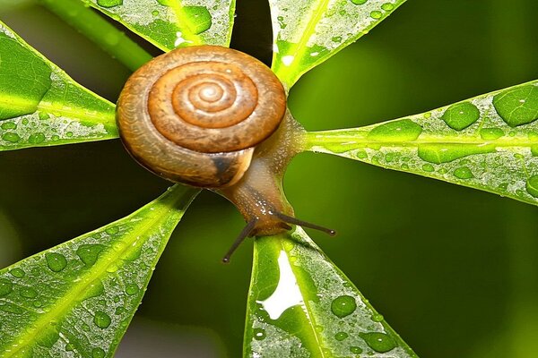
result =
[[[268,5],[238,3],[232,47],[270,61]],[[0,19],[30,45],[116,101],[124,66],[39,6],[0,4]],[[534,80],[537,16],[535,0],[410,0],[308,72],[291,111],[308,130],[360,126]],[[4,152],[0,168],[2,267],[124,217],[169,185],[119,141]],[[285,187],[298,217],[338,230],[310,234],[417,354],[538,356],[536,208],[312,153],[293,160]],[[243,225],[217,195],[195,200],[118,356],[240,355],[252,242],[228,266],[221,256]]]

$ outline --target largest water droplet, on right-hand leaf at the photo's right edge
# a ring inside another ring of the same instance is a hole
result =
[[[497,113],[510,127],[538,119],[538,87],[532,84],[504,90],[493,98]]]

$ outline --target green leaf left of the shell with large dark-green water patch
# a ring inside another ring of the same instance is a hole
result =
[[[114,110],[0,22],[0,151],[117,138]]]

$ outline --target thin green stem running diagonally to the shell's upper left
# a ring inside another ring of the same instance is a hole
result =
[[[126,34],[86,7],[80,0],[39,0],[69,26],[78,30],[132,71],[152,59]]]

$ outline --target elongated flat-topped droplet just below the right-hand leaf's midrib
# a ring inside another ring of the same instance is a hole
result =
[[[419,157],[434,164],[451,162],[453,160],[495,152],[494,145],[484,144],[422,144],[419,145]]]

